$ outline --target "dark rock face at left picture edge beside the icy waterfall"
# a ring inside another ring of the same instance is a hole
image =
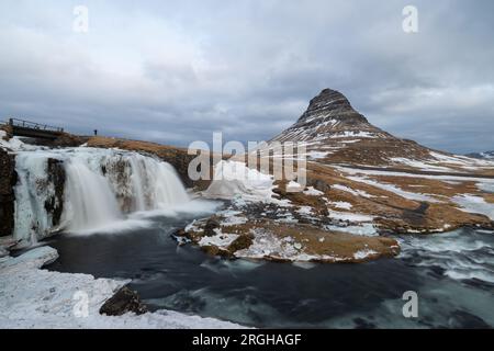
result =
[[[13,234],[16,182],[15,158],[0,148],[0,236]]]

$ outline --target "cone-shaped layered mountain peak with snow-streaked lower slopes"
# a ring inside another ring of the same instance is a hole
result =
[[[308,160],[327,165],[472,171],[476,160],[433,150],[372,125],[339,91],[324,89],[288,129],[270,140],[306,144]]]

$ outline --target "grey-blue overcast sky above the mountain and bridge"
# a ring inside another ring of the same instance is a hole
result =
[[[138,3],[138,4],[137,4]],[[74,7],[89,32],[72,30]],[[402,10],[418,9],[418,33]],[[324,88],[371,123],[494,149],[494,1],[0,2],[0,117],[187,146],[269,139]]]

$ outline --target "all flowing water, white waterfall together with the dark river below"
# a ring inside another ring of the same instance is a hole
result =
[[[358,264],[224,260],[171,238],[218,203],[191,200],[166,162],[81,147],[20,151],[15,163],[15,238],[56,248],[49,270],[131,280],[150,309],[271,328],[494,327],[492,231],[402,236],[400,257]],[[402,312],[409,291],[416,318]]]

